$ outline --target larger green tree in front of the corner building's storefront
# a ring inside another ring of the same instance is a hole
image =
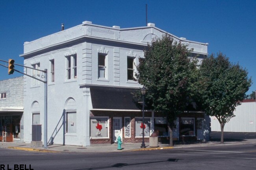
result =
[[[187,46],[165,35],[148,45],[145,59],[140,59],[137,66],[136,78],[147,88],[147,106],[162,112],[167,119],[171,146],[173,122],[186,109],[193,82],[191,73],[196,69],[196,60],[188,58],[189,52]]]

